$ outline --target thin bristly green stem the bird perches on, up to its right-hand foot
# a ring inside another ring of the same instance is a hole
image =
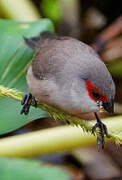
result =
[[[7,96],[12,99],[15,99],[17,101],[21,101],[23,98],[23,95],[21,92],[15,90],[15,89],[8,89],[6,87],[3,87],[0,85],[0,94],[2,96]],[[61,110],[57,110],[51,106],[47,106],[46,104],[43,104],[41,102],[38,103],[38,108],[47,111],[51,117],[53,117],[55,120],[62,120],[65,123],[70,122],[70,124],[74,124],[76,126],[81,126],[86,131],[91,132],[92,126],[88,121],[81,120],[78,117],[71,116],[69,113]]]

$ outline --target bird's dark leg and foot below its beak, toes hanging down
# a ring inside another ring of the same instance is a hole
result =
[[[108,138],[110,136],[108,134],[108,130],[107,130],[106,125],[101,122],[101,120],[100,120],[100,118],[96,112],[94,114],[95,114],[95,117],[97,119],[97,123],[93,126],[92,133],[94,134],[97,127],[100,128],[101,138],[97,136],[97,148],[99,151],[101,144],[102,144],[102,149],[104,148],[104,144],[105,144],[104,135],[106,135],[106,137],[108,137]]]

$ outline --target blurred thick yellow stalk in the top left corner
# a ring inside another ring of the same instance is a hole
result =
[[[35,21],[40,15],[30,0],[0,0],[0,11],[8,19]]]

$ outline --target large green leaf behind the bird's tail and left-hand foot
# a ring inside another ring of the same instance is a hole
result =
[[[49,20],[16,22],[0,20],[0,84],[28,93],[26,70],[34,51],[23,41],[25,37],[35,37],[44,31],[53,31]],[[31,108],[30,113],[20,115],[20,103],[9,98],[0,98],[0,134],[13,131],[28,122],[48,114]]]

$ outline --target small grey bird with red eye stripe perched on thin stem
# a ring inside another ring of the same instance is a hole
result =
[[[100,56],[89,45],[69,36],[43,32],[37,37],[24,37],[35,53],[27,70],[29,94],[22,100],[21,114],[28,114],[36,99],[73,115],[93,112],[101,138],[98,150],[104,148],[107,127],[97,112],[103,107],[114,113],[115,83]]]

